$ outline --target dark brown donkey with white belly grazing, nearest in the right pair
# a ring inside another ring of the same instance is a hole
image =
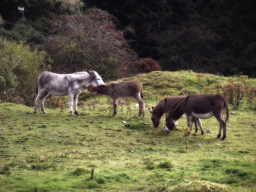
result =
[[[176,103],[175,107],[172,107],[168,111],[165,131],[168,133],[172,132],[177,126],[177,120],[184,113],[187,117],[188,127],[192,126],[191,119],[194,117],[201,130],[203,130],[203,128],[200,119],[209,119],[214,116],[219,122],[218,138],[220,138],[223,128],[223,137],[221,140],[224,140],[226,138],[226,122],[223,120],[225,111],[227,122],[229,119],[228,103],[225,97],[221,95],[189,95],[181,102]]]

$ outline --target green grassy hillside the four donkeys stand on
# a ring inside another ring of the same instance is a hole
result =
[[[201,84],[217,91],[215,80],[223,85],[229,79],[204,74]],[[245,100],[239,110],[229,106],[235,114],[225,141],[217,138],[215,118],[202,120],[212,133],[201,136],[193,129],[186,150],[185,116],[168,134],[165,117],[153,128],[148,108],[167,95],[199,93],[196,73],[156,71],[120,80],[143,84],[144,118],[133,99],[120,103],[112,117],[110,100],[87,90],[79,97],[81,116],[71,116],[61,105],[53,109],[56,97],[47,100],[47,114],[0,104],[0,191],[255,191],[256,118]],[[256,85],[255,79],[246,83]]]

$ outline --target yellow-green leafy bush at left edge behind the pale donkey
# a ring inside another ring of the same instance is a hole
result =
[[[37,78],[45,69],[45,53],[0,37],[0,54],[0,98],[6,92],[11,101],[18,97],[32,105]]]

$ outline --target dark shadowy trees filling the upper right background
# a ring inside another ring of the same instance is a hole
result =
[[[84,0],[130,25],[139,56],[152,57],[165,70],[256,76],[256,2],[239,0]],[[249,57],[247,57],[247,54]]]

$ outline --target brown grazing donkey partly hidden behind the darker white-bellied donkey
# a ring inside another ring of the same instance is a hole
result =
[[[160,123],[161,123],[161,117],[163,116],[164,113],[168,114],[168,110],[172,105],[174,105],[176,102],[181,101],[185,99],[186,96],[169,96],[166,97],[165,99],[161,100],[156,107],[152,107],[152,110],[149,108],[149,112],[152,114],[151,115],[151,120],[153,122],[154,128],[158,128]],[[166,116],[167,117],[167,116]],[[195,123],[195,128],[196,131],[198,131],[198,126],[195,118],[192,118],[191,123]],[[192,130],[192,126],[191,126]]]

